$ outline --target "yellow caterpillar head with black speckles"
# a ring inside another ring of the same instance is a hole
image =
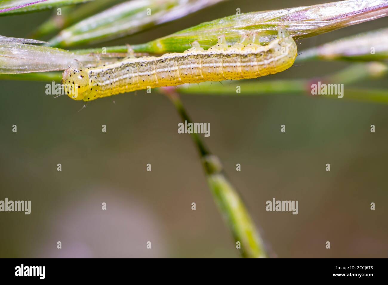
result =
[[[69,68],[63,72],[62,84],[65,94],[71,99],[83,100],[85,92],[89,89],[89,76],[87,68]]]

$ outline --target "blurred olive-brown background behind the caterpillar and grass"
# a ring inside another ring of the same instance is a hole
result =
[[[236,8],[250,12],[323,2],[231,0],[95,46],[146,42]],[[0,17],[0,34],[26,38],[50,15]],[[351,26],[300,40],[298,47],[386,24],[382,18]],[[256,80],[320,76],[347,65],[309,62]],[[31,200],[30,215],[0,213],[0,257],[239,257],[191,137],[177,133],[181,120],[165,96],[121,94],[78,112],[82,103],[53,99],[45,84],[0,81],[0,200]],[[356,86],[387,87],[387,81]],[[243,93],[185,94],[182,100],[194,122],[210,122],[211,135],[202,138],[222,160],[272,255],[388,257],[388,106],[346,100],[346,86],[345,97],[336,100]],[[152,171],[146,171],[147,163]],[[266,212],[265,201],[272,198],[299,200],[298,215]]]

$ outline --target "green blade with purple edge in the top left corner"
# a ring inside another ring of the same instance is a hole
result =
[[[24,14],[52,7],[73,5],[94,0],[4,0],[0,3],[0,16]]]

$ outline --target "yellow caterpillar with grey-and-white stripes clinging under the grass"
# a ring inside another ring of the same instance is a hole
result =
[[[91,101],[150,87],[274,74],[291,67],[297,56],[296,44],[286,28],[278,26],[277,32],[277,38],[265,46],[260,45],[257,33],[243,35],[230,47],[222,36],[207,51],[194,42],[183,53],[132,56],[96,68],[69,66],[63,73],[62,84],[70,98]]]

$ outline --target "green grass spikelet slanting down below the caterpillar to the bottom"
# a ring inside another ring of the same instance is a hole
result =
[[[179,96],[174,93],[174,89],[165,88],[163,90],[174,104],[182,120],[190,123],[191,119],[187,115]],[[236,243],[238,241],[241,243],[241,256],[245,258],[266,258],[267,254],[265,253],[263,241],[242,199],[225,177],[220,160],[210,153],[197,134],[191,135],[199,152],[206,180],[218,209],[232,232]]]

